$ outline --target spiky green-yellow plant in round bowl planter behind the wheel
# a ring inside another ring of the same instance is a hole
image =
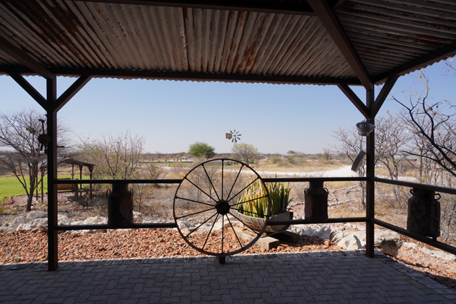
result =
[[[287,207],[293,198],[289,198],[289,183],[275,182],[267,186],[271,198],[270,220],[292,220],[293,212],[287,211]],[[236,217],[242,220],[243,224],[254,230],[261,230],[265,223],[267,213],[267,197],[263,184],[257,180],[251,184],[243,196],[238,198],[236,204]],[[267,226],[265,231],[278,233],[287,230],[289,225]]]

